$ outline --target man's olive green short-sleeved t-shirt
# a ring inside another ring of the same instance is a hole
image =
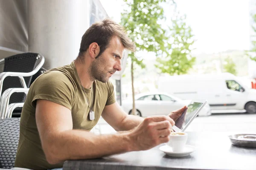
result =
[[[74,62],[46,71],[35,80],[29,88],[21,113],[15,167],[42,170],[63,166],[63,163],[52,165],[46,160],[35,122],[36,100],[45,99],[65,106],[71,111],[73,129],[90,131],[98,122],[105,105],[111,105],[116,100],[110,81],[102,83],[96,80],[90,89],[84,88],[84,91]],[[93,99],[94,120],[89,119],[90,109],[85,95],[90,106]]]

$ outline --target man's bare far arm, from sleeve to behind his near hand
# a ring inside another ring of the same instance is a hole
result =
[[[125,113],[117,102],[105,106],[102,118],[116,131],[127,131],[138,126],[144,118]]]

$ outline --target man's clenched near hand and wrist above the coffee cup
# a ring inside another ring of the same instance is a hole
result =
[[[131,130],[130,139],[134,150],[148,150],[169,141],[172,126],[175,125],[169,116],[150,116]]]

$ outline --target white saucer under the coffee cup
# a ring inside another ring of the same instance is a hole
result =
[[[182,152],[173,152],[172,147],[169,147],[168,145],[163,145],[159,149],[167,155],[175,157],[189,156],[190,153],[195,151],[195,147],[188,144],[185,145],[185,148]]]

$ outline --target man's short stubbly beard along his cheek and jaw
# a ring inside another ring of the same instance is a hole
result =
[[[103,57],[99,56],[96,58],[92,64],[90,65],[90,77],[93,80],[98,80],[100,82],[106,83],[109,80],[108,73],[111,72],[112,74],[115,72],[115,70],[107,71],[105,69],[106,61],[103,59]]]

